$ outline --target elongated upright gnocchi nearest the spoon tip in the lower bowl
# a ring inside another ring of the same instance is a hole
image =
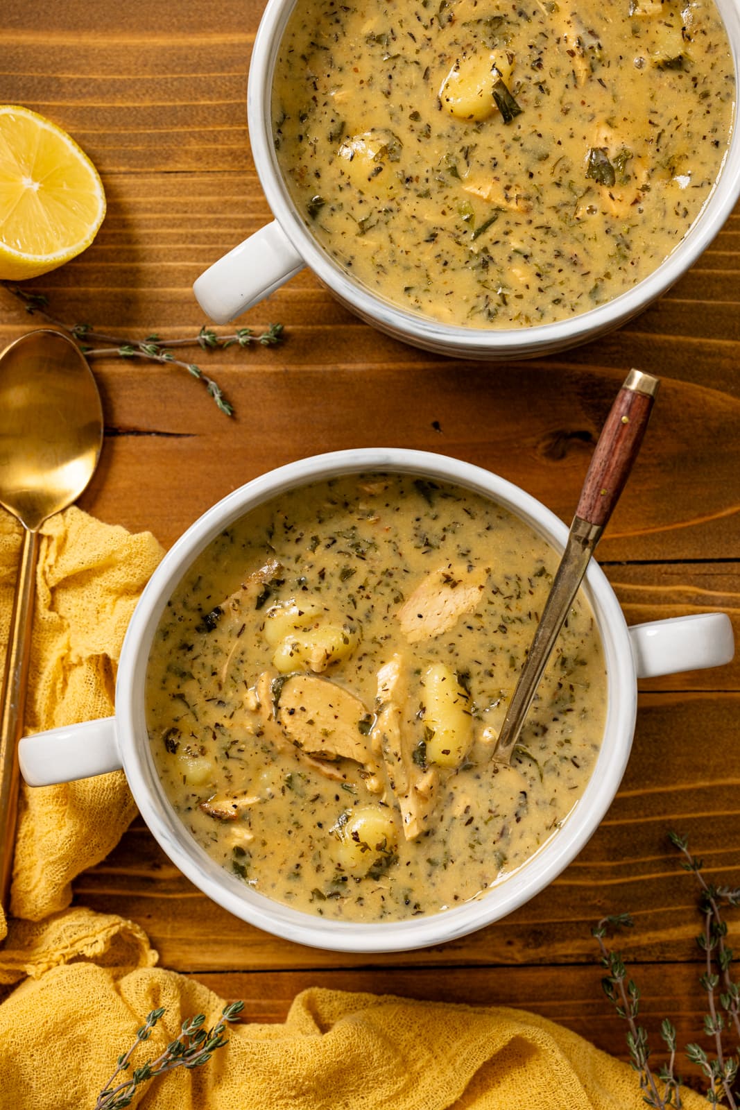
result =
[[[454,670],[435,663],[424,675],[424,698],[426,761],[437,767],[459,767],[473,740],[468,694]]]

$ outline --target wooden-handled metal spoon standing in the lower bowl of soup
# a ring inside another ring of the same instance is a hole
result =
[[[580,492],[560,565],[504,718],[494,751],[496,763],[507,764],[511,759],[558,633],[637,458],[658,385],[658,379],[651,374],[630,370],[607,416]]]

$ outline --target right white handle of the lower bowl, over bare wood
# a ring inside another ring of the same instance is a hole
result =
[[[695,613],[632,625],[629,629],[638,678],[721,667],[734,655],[727,613]]]

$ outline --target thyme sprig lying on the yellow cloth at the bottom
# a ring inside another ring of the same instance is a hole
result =
[[[139,1068],[134,1068],[124,1080],[115,1083],[122,1072],[129,1071],[134,1051],[143,1041],[149,1040],[152,1029],[164,1013],[164,1007],[152,1010],[146,1016],[144,1025],[136,1031],[136,1039],[131,1048],[119,1057],[118,1067],[98,1096],[94,1110],[122,1110],[123,1107],[131,1104],[138,1089],[150,1079],[163,1076],[168,1071],[174,1071],[175,1068],[192,1070],[207,1063],[216,1049],[229,1043],[223,1037],[226,1023],[237,1021],[243,1009],[244,1002],[241,1001],[225,1006],[221,1011],[222,1020],[213,1029],[203,1028],[205,1025],[205,1015],[203,1013],[187,1018],[182,1023],[178,1039],[171,1041],[164,1052],[155,1060],[146,1060]]]

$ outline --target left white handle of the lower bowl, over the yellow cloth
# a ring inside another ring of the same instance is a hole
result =
[[[18,759],[29,786],[71,783],[120,770],[123,764],[115,737],[115,717],[24,736],[18,745]]]

